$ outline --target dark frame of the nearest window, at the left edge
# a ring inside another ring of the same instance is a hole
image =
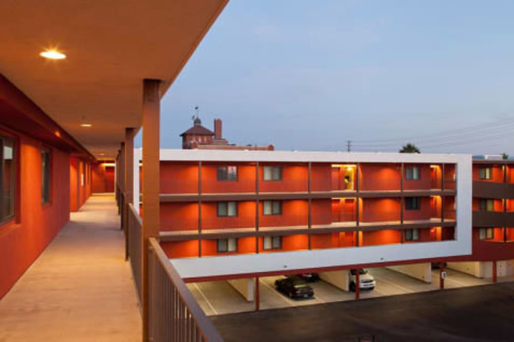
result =
[[[5,191],[4,191],[4,171],[5,171],[5,159],[4,152],[6,146],[6,140],[10,140],[12,144],[12,177],[10,179],[10,188],[11,188],[11,206],[9,211],[12,210],[11,213],[7,213],[5,208]],[[20,170],[20,154],[18,151],[19,140],[16,136],[8,134],[4,131],[0,131],[0,226],[11,222],[12,220],[17,220],[17,214],[19,211],[18,198],[19,198],[19,170]]]

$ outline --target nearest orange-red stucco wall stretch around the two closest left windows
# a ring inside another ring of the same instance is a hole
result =
[[[41,147],[19,136],[18,219],[0,226],[0,298],[69,220],[69,155],[45,146],[51,150],[51,200],[41,205]]]

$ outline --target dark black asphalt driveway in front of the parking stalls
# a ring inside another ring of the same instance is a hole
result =
[[[514,283],[211,317],[231,341],[511,341]]]

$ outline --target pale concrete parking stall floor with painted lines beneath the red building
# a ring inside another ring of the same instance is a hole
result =
[[[375,278],[377,285],[374,290],[361,290],[360,297],[362,299],[439,289],[438,269],[432,270],[431,284],[383,267],[370,268],[368,270]],[[445,280],[446,289],[490,284],[488,279],[475,278],[451,269],[446,269],[446,272],[448,274]],[[275,290],[274,282],[279,278],[282,278],[282,276],[262,277],[259,279],[261,310],[301,307],[355,299],[355,293],[340,290],[331,284],[325,283],[323,280],[309,284],[314,289],[314,298],[291,299]],[[209,316],[248,312],[255,309],[255,304],[246,301],[227,281],[192,283],[188,284],[188,287],[200,304],[200,307]]]

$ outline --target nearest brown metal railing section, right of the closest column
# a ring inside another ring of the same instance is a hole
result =
[[[149,243],[150,340],[222,342],[157,239]]]

